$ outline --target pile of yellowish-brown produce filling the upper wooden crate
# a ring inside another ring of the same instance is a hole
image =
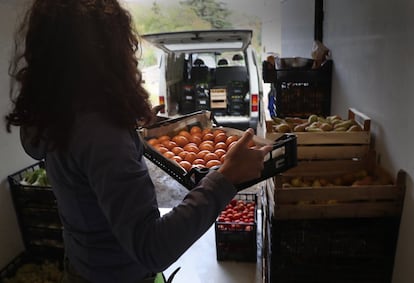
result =
[[[292,132],[356,132],[362,131],[354,119],[342,119],[338,115],[322,117],[310,115],[307,119],[297,117],[273,117],[273,130],[279,133]]]

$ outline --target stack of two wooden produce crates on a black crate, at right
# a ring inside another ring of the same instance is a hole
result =
[[[292,131],[298,142],[298,165],[268,181],[268,282],[391,282],[405,172],[393,178],[378,165],[371,120],[348,115],[285,118],[268,131]]]

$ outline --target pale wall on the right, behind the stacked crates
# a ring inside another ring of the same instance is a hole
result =
[[[332,113],[346,116],[347,109],[355,107],[370,116],[381,165],[393,175],[399,169],[408,174],[393,282],[411,283],[414,278],[414,1],[324,2],[324,43],[331,49],[334,61]],[[294,16],[304,9],[309,9],[305,1],[285,1],[282,12],[288,16],[283,17],[282,30],[291,25],[305,27],[308,20],[298,23],[302,17]],[[295,35],[294,28],[290,29],[292,33],[287,40],[282,33],[283,52],[309,48],[308,42],[303,41],[307,29]],[[302,44],[301,48],[297,44]]]

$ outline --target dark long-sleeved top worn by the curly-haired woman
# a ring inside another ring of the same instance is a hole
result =
[[[98,114],[76,120],[66,152],[34,148],[24,133],[22,144],[32,157],[45,158],[65,252],[91,282],[137,282],[165,270],[211,227],[236,194],[214,171],[161,217],[137,133]]]

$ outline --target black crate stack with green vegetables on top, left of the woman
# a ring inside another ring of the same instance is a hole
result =
[[[8,176],[26,251],[33,256],[63,259],[62,223],[44,163]]]

